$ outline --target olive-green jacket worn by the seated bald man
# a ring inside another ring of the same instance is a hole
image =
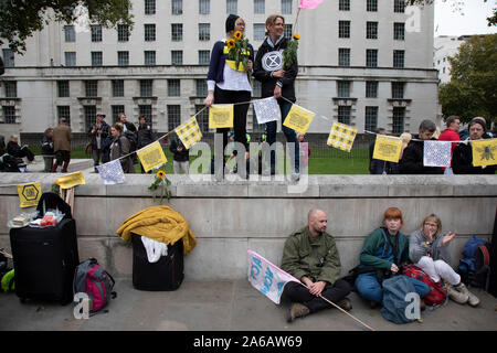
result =
[[[335,239],[324,233],[313,242],[308,226],[293,233],[285,242],[282,269],[297,279],[304,276],[331,286],[340,275],[340,257]]]

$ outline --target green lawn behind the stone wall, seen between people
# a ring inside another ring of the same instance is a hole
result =
[[[31,149],[34,154],[41,154],[40,148]],[[172,174],[172,153],[169,149],[163,149],[168,163],[166,173]],[[309,174],[368,174],[369,159],[362,150],[353,150],[351,154],[337,149],[314,149],[309,158]],[[313,158],[313,156],[319,158]],[[72,159],[91,159],[83,148],[75,148],[71,151]],[[190,163],[197,157],[190,157]],[[285,159],[286,161],[286,159]],[[230,161],[229,167],[234,165],[234,159]],[[139,164],[135,164],[135,172],[141,173]]]

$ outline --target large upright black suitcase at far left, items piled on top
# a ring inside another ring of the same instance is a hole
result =
[[[55,226],[11,228],[10,245],[15,293],[21,302],[27,299],[62,304],[73,301],[73,278],[80,256],[76,222],[71,214]]]

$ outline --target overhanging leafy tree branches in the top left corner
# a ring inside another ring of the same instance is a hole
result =
[[[51,20],[73,23],[82,9],[91,23],[133,29],[130,0],[0,0],[0,45],[8,42],[13,52],[23,54],[25,40],[34,32]]]

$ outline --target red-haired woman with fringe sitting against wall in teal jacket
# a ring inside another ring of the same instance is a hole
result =
[[[409,239],[400,229],[403,225],[402,212],[396,207],[387,208],[383,225],[364,239],[360,254],[360,268],[373,270],[359,275],[356,279],[358,293],[371,301],[371,307],[383,301],[382,280],[399,271],[401,264],[409,261]],[[430,288],[420,280],[405,276],[421,298]]]

